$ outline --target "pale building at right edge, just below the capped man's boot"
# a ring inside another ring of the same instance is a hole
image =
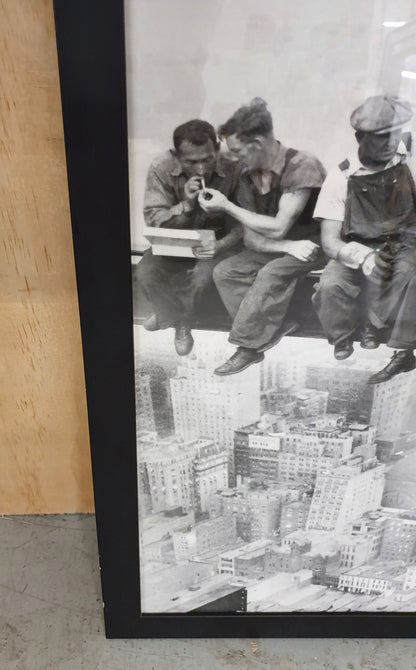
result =
[[[397,375],[388,382],[376,384],[371,423],[377,436],[397,437],[411,424],[410,413],[416,411],[416,374],[414,371]],[[413,405],[413,408],[409,406]],[[414,420],[414,419],[413,419]]]

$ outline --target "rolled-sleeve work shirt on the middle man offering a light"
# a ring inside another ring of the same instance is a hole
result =
[[[324,179],[325,168],[307,151],[296,151],[277,142],[276,154],[270,172],[241,169],[236,190],[236,203],[257,214],[276,216],[283,194],[304,188],[312,189],[304,211],[286,234],[286,239],[314,239],[319,227],[312,220],[313,207]]]

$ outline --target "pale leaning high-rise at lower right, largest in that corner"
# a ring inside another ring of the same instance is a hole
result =
[[[322,471],[312,497],[307,529],[344,532],[347,525],[381,503],[385,466],[376,459],[351,457]]]

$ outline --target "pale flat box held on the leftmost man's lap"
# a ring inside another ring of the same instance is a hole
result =
[[[152,228],[146,226],[143,234],[152,245],[155,256],[183,256],[194,258],[193,247],[215,238],[213,230],[186,230],[183,228]]]

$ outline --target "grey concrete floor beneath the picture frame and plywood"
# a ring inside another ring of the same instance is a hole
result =
[[[106,640],[92,515],[0,517],[1,670],[414,670],[414,640]]]

